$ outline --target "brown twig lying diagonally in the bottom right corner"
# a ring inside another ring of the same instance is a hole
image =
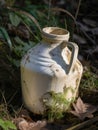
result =
[[[85,121],[85,122],[82,122],[82,123],[79,123],[78,125],[75,125],[75,126],[72,126],[66,130],[80,130],[81,128],[85,127],[85,126],[88,126],[88,125],[91,125],[93,124],[94,122],[98,121],[98,116],[88,120],[88,121]]]

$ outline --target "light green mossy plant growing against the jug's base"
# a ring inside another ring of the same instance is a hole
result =
[[[49,98],[47,98],[47,96]],[[48,92],[43,97],[43,104],[47,108],[46,115],[48,119],[53,121],[54,119],[62,118],[64,116],[63,111],[67,111],[70,108],[71,102],[72,100],[66,100],[63,93]]]

